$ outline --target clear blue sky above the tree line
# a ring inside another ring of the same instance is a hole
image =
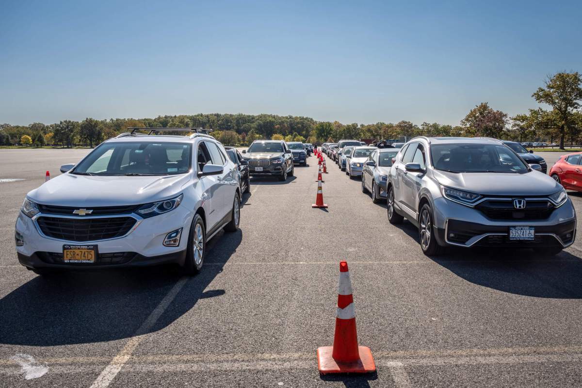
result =
[[[0,123],[275,113],[458,124],[582,71],[577,1],[5,1]]]

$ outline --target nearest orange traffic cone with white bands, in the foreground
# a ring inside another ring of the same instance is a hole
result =
[[[356,311],[347,262],[339,263],[338,312],[333,346],[317,348],[320,373],[368,373],[376,371],[370,348],[358,346]]]

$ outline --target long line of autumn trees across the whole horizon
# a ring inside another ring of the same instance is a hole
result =
[[[582,140],[582,77],[578,72],[560,72],[549,76],[544,87],[532,95],[538,104],[549,109],[529,109],[509,118],[487,102],[475,106],[457,126],[424,122],[418,126],[409,121],[398,123],[342,124],[318,122],[304,116],[245,115],[198,113],[197,115],[158,116],[154,119],[87,118],[81,122],[32,123],[28,126],[0,124],[0,145],[55,145],[94,147],[101,141],[126,132],[128,127],[202,127],[225,145],[247,145],[254,140],[275,139],[321,144],[342,138],[383,140],[414,136],[485,136],[515,141],[559,140],[580,144]]]

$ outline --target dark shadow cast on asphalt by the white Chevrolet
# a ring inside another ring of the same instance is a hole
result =
[[[207,252],[202,271],[176,295],[179,302],[169,305],[150,332],[176,321],[199,299],[225,294],[205,289],[241,241],[241,230],[223,234]],[[0,343],[59,346],[132,337],[180,277],[173,266],[34,277],[0,299]]]

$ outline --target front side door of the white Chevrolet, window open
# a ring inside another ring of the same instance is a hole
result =
[[[208,144],[209,142],[207,141],[198,143],[196,151],[197,172],[202,172],[206,164],[214,164],[207,147]],[[219,190],[221,183],[219,183],[218,175],[207,175],[200,177],[197,184],[201,186],[201,198],[204,201],[202,207],[206,213],[207,232],[210,232],[221,220],[220,212],[216,210],[218,207],[222,207],[222,198],[220,198],[221,193]]]

